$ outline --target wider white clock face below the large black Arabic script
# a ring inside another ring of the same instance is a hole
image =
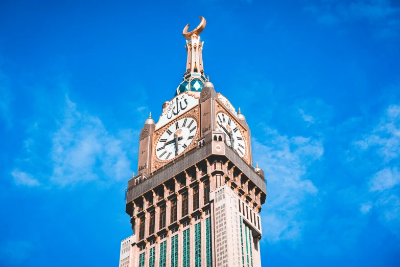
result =
[[[183,118],[172,124],[156,145],[157,158],[168,161],[177,157],[195,139],[197,128],[197,121],[193,118]]]

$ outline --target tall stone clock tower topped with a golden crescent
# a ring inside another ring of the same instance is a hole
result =
[[[205,76],[200,19],[183,30],[186,69],[175,96],[140,132],[126,200],[133,236],[120,266],[261,266],[264,172],[253,167],[245,116]]]

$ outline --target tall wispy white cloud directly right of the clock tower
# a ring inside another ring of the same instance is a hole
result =
[[[258,162],[268,180],[268,197],[262,216],[264,236],[269,241],[296,240],[300,237],[302,203],[318,189],[308,180],[307,168],[321,159],[322,142],[311,138],[281,136],[266,128],[261,142],[253,140],[253,159]]]

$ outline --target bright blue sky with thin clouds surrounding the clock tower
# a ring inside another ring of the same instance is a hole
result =
[[[113,266],[138,131],[185,71],[241,107],[262,263],[400,265],[400,4],[0,3],[0,265]]]

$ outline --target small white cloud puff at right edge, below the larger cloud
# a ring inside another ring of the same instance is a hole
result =
[[[392,189],[395,185],[400,183],[400,175],[397,172],[397,168],[393,169],[385,168],[372,177],[369,182],[369,191],[384,191]]]

